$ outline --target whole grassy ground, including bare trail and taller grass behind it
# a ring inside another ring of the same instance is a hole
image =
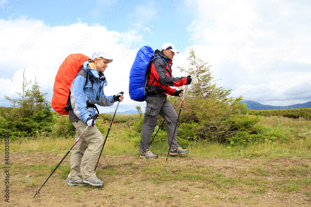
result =
[[[310,206],[310,122],[268,117],[261,124],[301,133],[304,139],[230,147],[193,142],[187,155],[170,156],[167,161],[167,143],[155,142],[151,150],[159,158],[142,160],[137,144],[125,138],[132,129],[116,123],[96,169],[104,188],[68,187],[69,154],[35,198],[35,190],[72,146],[73,138],[11,142],[10,203],[3,199],[0,205]],[[0,146],[4,149],[3,142]]]

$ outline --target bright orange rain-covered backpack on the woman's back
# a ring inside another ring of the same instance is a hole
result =
[[[52,108],[59,114],[68,115],[65,110],[69,96],[69,88],[77,72],[83,67],[83,63],[90,59],[81,53],[70,54],[59,66],[55,76],[53,96],[51,101]]]

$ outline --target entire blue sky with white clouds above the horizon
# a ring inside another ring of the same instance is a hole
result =
[[[125,92],[118,111],[143,107],[127,96],[129,69],[140,47],[155,50],[166,42],[180,50],[174,76],[187,75],[174,66],[188,67],[193,48],[233,97],[275,106],[305,103],[311,97],[310,7],[307,0],[0,0],[0,106],[9,106],[4,95],[21,92],[24,69],[50,101],[68,54],[103,50],[114,57],[105,94]]]

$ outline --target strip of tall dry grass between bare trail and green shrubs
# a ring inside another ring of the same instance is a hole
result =
[[[289,119],[284,117],[267,117],[260,124],[271,125],[279,128],[294,128],[297,132],[309,132],[311,121],[305,119]],[[280,126],[281,125],[281,126]],[[109,125],[108,125],[109,126]],[[128,134],[132,133],[132,129],[123,123],[113,124],[109,132],[108,139],[104,146],[104,154],[122,155],[128,154],[139,156],[137,144],[128,140]],[[106,134],[103,135],[106,137]],[[192,142],[188,148],[189,156],[200,157],[236,157],[236,158],[254,158],[254,157],[294,157],[300,156],[310,158],[310,153],[307,153],[311,148],[311,139],[308,139],[308,134],[304,135],[305,140],[292,140],[292,143],[279,142],[262,142],[250,143],[246,146],[228,146],[219,143],[211,142]],[[53,154],[65,154],[74,143],[73,138],[39,138],[29,139],[25,141],[14,141],[10,143],[10,148],[13,151],[25,153],[33,152],[48,152]],[[3,147],[1,142],[1,147]],[[154,142],[151,145],[151,150],[160,156],[166,156],[168,153],[167,142]]]

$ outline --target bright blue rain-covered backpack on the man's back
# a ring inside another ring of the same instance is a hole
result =
[[[161,57],[155,57],[152,48],[149,46],[143,46],[138,50],[130,70],[130,80],[128,83],[128,94],[133,101],[145,101],[144,98],[147,96],[146,90],[156,80],[154,79],[148,85],[151,63],[156,58]]]

